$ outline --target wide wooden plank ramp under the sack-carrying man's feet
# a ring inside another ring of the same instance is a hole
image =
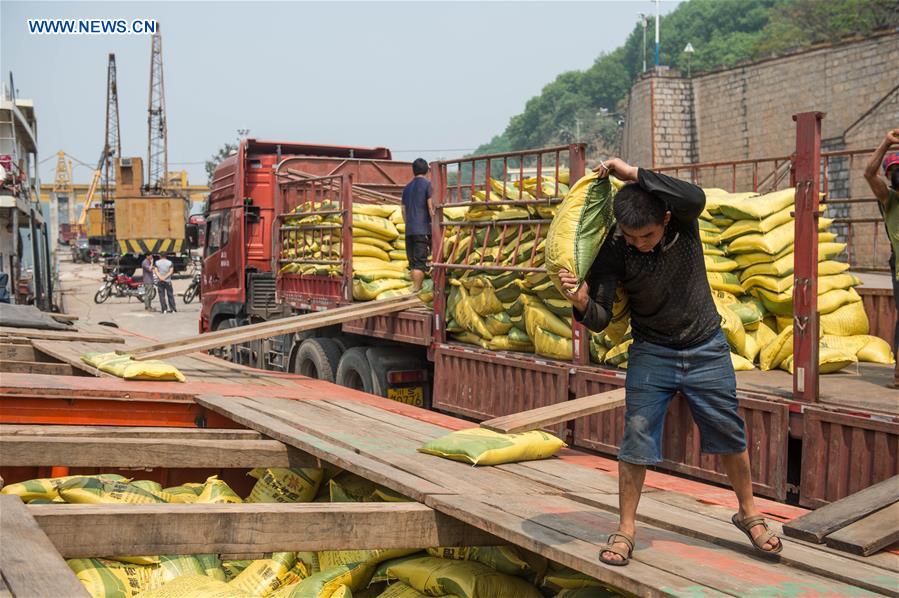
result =
[[[476,468],[424,455],[416,449],[445,434],[445,428],[343,397],[202,395],[198,402],[474,528],[641,596],[899,595],[895,573],[887,569],[863,567],[811,545],[788,559],[759,558],[733,526],[663,502],[641,509],[631,564],[604,565],[597,558],[599,545],[617,527],[615,477],[560,459]],[[655,494],[647,492],[644,499]],[[785,553],[796,547],[789,540],[785,544]]]

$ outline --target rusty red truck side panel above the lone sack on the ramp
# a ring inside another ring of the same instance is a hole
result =
[[[568,400],[568,368],[539,359],[441,345],[434,353],[434,407],[478,420]],[[566,434],[560,424],[551,428]]]

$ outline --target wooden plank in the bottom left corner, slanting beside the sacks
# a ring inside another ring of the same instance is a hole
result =
[[[0,537],[0,574],[13,596],[88,595],[18,496],[0,495]]]

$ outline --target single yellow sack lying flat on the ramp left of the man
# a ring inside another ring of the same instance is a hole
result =
[[[564,446],[565,443],[552,434],[539,430],[500,434],[484,428],[469,428],[431,440],[418,451],[472,465],[500,465],[546,459]]]

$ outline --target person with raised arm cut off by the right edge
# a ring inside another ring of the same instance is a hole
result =
[[[887,229],[887,238],[890,241],[890,278],[893,283],[893,301],[896,302],[896,311],[899,311],[899,268],[896,268],[896,259],[899,256],[899,153],[886,153],[894,145],[899,145],[899,129],[887,131],[880,145],[871,154],[868,166],[865,168],[865,180],[877,198],[877,207],[883,216],[883,223]],[[884,157],[886,156],[886,157]],[[883,174],[887,178],[885,183],[877,174],[877,169],[883,164]],[[899,353],[899,321],[893,331],[893,352]]]

